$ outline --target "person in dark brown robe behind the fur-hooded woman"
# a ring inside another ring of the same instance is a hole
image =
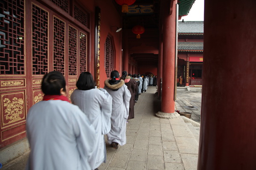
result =
[[[134,119],[134,105],[137,82],[127,75],[127,71],[122,72],[122,77],[120,79],[123,79],[125,81],[125,85],[131,93],[131,99],[129,104],[129,116],[127,120]]]

